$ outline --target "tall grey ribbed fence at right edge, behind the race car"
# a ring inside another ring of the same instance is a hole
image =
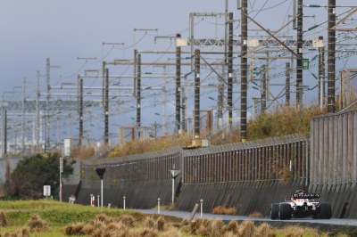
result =
[[[356,184],[357,110],[311,120],[310,182]]]

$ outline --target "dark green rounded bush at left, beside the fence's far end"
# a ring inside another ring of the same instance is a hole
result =
[[[63,159],[62,177],[73,173],[68,159]],[[12,172],[8,194],[13,198],[38,199],[42,197],[43,186],[51,185],[53,192],[60,187],[60,155],[37,154],[21,159]]]

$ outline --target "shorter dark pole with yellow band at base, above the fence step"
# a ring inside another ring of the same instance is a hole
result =
[[[200,139],[200,50],[195,49],[195,140]]]

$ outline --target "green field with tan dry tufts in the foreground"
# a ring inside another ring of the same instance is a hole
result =
[[[224,224],[199,218],[183,224],[178,217],[146,215],[120,208],[93,208],[56,200],[0,200],[0,236],[328,236],[317,229],[275,229],[252,221]],[[348,236],[336,234],[334,236]]]

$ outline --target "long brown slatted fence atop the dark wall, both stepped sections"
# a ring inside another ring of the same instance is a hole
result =
[[[183,184],[304,178],[307,140],[288,135],[257,142],[231,143],[195,150],[180,148],[84,163],[84,184],[99,182],[95,168],[106,168],[105,184],[170,180],[179,169]]]

